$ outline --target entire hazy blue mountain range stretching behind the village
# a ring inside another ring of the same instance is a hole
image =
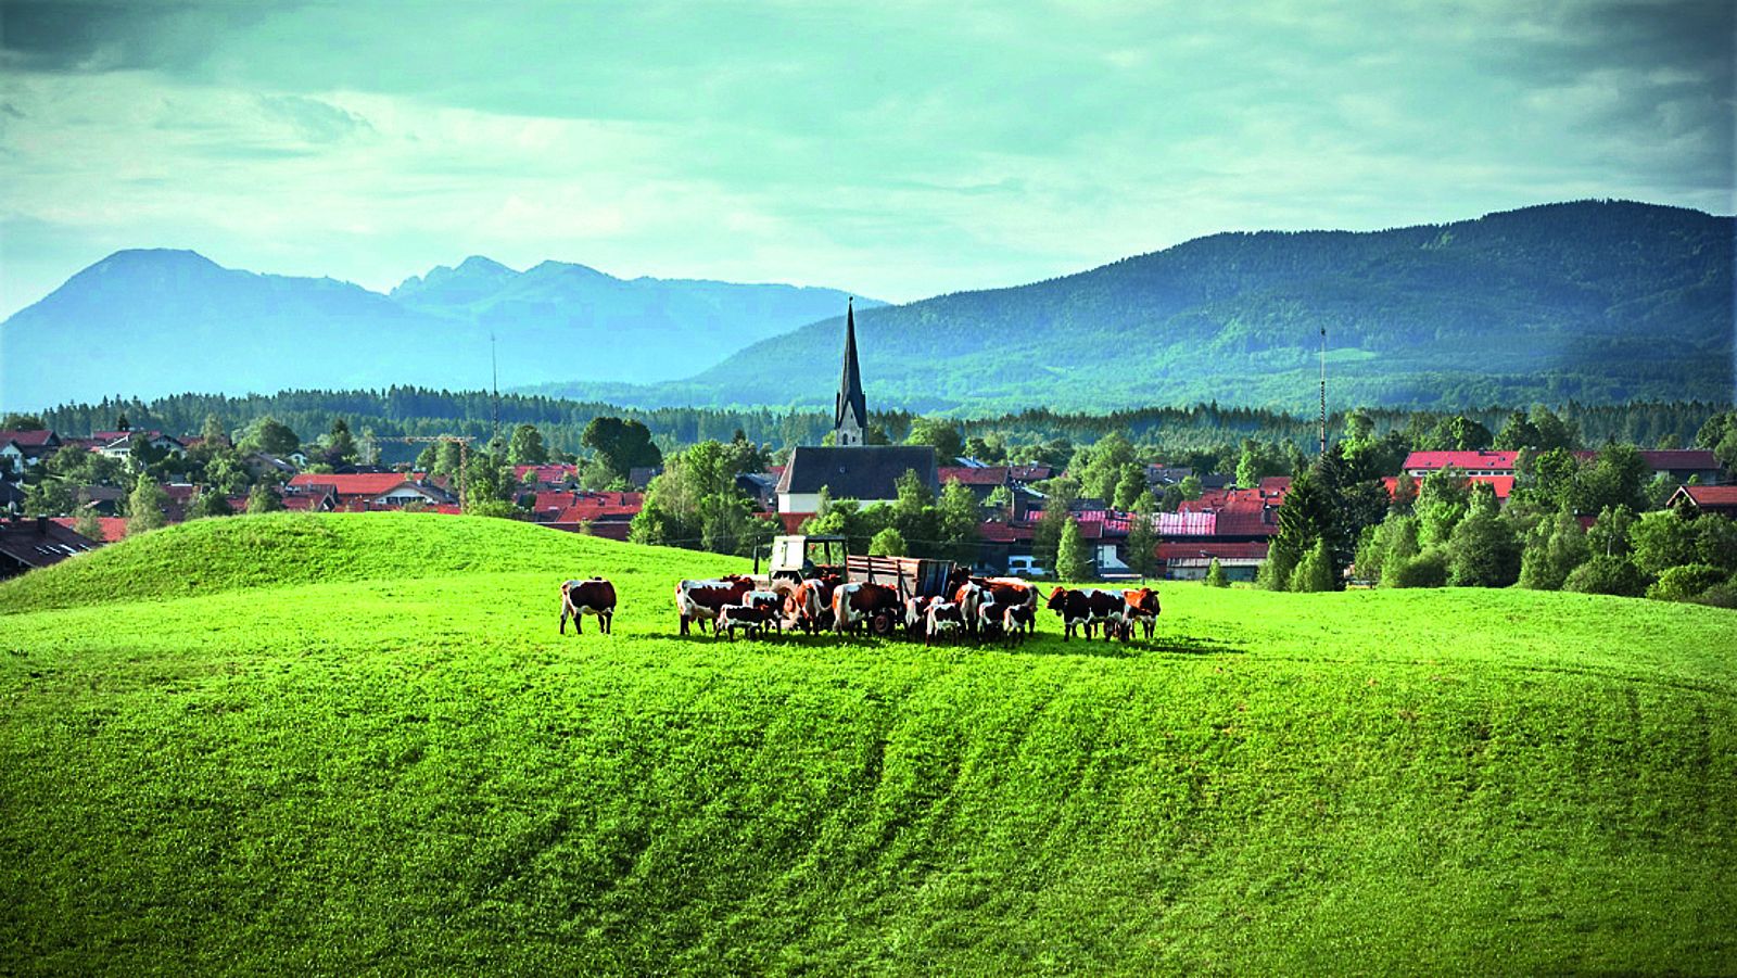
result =
[[[1320,328],[1336,405],[1730,401],[1732,268],[1732,217],[1579,202],[1374,233],[1214,235],[1014,288],[858,302],[856,327],[870,408],[1308,410]],[[0,325],[0,406],[479,389],[490,330],[507,387],[816,406],[834,396],[842,307],[827,288],[624,281],[561,262],[518,273],[472,257],[380,295],[118,252]]]

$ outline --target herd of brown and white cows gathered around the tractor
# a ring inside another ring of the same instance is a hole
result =
[[[1037,627],[1037,603],[1039,592],[1030,582],[971,577],[964,570],[948,577],[941,594],[917,598],[902,598],[896,587],[886,584],[844,582],[837,575],[782,584],[775,591],[757,589],[754,578],[743,575],[676,584],[681,634],[698,625],[702,632],[710,627],[714,638],[728,634],[731,641],[736,631],[749,636],[790,629],[856,634],[867,625],[875,634],[903,629],[926,644],[966,636],[1018,643]],[[1063,641],[1075,632],[1093,638],[1098,629],[1103,629],[1105,641],[1127,641],[1136,627],[1150,639],[1159,620],[1159,594],[1148,587],[1056,587],[1044,606],[1061,617]],[[608,634],[615,617],[615,585],[601,577],[561,584],[561,634],[566,634],[568,618],[578,632],[580,615],[596,615],[598,627]]]

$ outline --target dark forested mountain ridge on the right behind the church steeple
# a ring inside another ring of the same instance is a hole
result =
[[[1732,398],[1730,217],[1581,202],[1376,233],[1228,233],[856,316],[872,408]],[[830,405],[842,321],[615,403]],[[545,393],[578,393],[544,387]]]

